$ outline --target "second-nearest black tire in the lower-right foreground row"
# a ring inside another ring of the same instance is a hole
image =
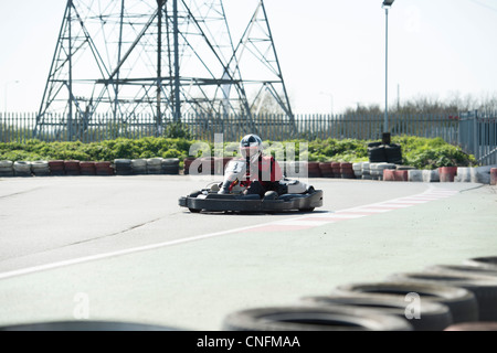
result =
[[[378,311],[383,314],[393,314],[408,322],[414,331],[443,331],[453,323],[452,313],[447,306],[420,300],[419,317],[408,318],[406,308],[409,302],[403,298],[371,295],[369,297],[359,296],[322,296],[306,297],[304,302],[317,306],[352,306]]]

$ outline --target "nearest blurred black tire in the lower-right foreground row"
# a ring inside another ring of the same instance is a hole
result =
[[[371,310],[313,306],[247,309],[224,318],[224,331],[412,331],[394,315]]]

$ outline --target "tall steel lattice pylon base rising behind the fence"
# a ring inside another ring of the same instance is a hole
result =
[[[264,95],[293,121],[263,0],[237,42],[222,0],[67,0],[35,130],[71,137],[74,121],[139,114],[157,127],[187,114],[252,121]]]

